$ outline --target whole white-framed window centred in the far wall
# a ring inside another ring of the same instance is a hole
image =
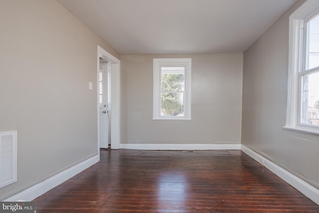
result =
[[[153,119],[190,120],[190,58],[153,59]]]

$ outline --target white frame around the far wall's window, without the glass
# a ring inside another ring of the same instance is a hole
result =
[[[185,66],[184,116],[160,116],[161,66]],[[191,58],[153,59],[153,120],[191,120]]]

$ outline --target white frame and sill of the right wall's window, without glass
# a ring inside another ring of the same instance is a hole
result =
[[[319,12],[319,0],[307,0],[289,17],[289,73],[287,117],[284,129],[319,135],[319,127],[302,124],[301,69],[305,61],[304,23]],[[305,74],[305,73],[304,73]]]

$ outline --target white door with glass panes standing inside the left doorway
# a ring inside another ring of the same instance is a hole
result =
[[[100,88],[100,148],[109,147],[109,69],[107,61],[100,61],[99,88]]]

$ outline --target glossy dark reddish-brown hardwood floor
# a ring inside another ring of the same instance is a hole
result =
[[[237,150],[101,150],[99,163],[34,202],[37,213],[319,213]]]

